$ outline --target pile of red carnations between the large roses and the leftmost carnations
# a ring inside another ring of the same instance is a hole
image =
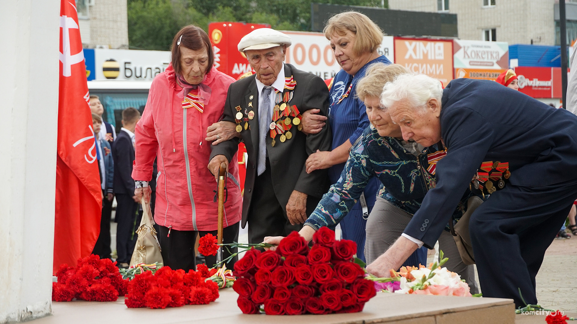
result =
[[[154,274],[147,271],[134,276],[124,303],[128,308],[166,308],[208,304],[218,297],[218,285],[200,272],[163,266]]]

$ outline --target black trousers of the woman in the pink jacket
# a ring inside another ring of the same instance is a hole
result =
[[[224,244],[238,242],[238,229],[240,222],[223,228],[222,242]],[[185,272],[188,270],[196,269],[194,264],[194,244],[196,243],[196,235],[203,237],[208,233],[216,236],[218,231],[177,231],[176,229],[171,229],[170,236],[168,236],[168,227],[162,225],[158,226],[158,240],[160,243],[160,248],[162,249],[162,258],[164,260],[164,265],[169,266],[171,269],[183,269]],[[238,248],[229,247],[231,253],[237,253]],[[222,258],[223,260],[230,257],[231,253],[228,252],[226,248],[223,250]],[[208,268],[212,268],[216,263],[216,255],[205,255],[204,256]],[[230,262],[226,263],[227,269],[234,269],[234,263],[238,261],[238,256],[231,259]]]

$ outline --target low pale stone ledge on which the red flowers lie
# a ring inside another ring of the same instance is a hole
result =
[[[220,291],[216,302],[151,310],[126,308],[124,298],[117,302],[53,303],[53,316],[36,319],[31,324],[61,323],[202,323],[202,324],[513,324],[515,304],[512,299],[404,295],[379,292],[365,304],[362,312],[328,315],[246,315],[237,306],[237,293],[231,288]]]

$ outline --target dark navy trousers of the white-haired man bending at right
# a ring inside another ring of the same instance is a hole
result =
[[[469,230],[483,296],[537,304],[535,276],[577,197],[577,181],[542,187],[507,184],[471,216]]]

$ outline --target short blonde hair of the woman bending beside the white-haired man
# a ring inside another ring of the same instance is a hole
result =
[[[365,101],[367,97],[381,97],[383,86],[395,80],[396,76],[409,73],[400,64],[373,63],[367,69],[365,77],[357,83],[357,97]]]

